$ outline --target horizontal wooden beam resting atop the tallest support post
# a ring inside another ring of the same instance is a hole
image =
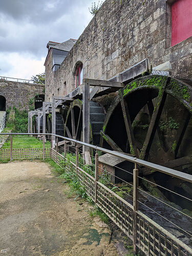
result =
[[[106,81],[106,80],[96,80],[96,79],[83,79],[84,84],[89,84],[90,86],[100,86],[100,87],[113,87],[113,88],[123,88],[124,85],[121,82]]]

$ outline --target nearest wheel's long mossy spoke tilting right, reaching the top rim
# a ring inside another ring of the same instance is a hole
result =
[[[150,148],[155,136],[155,132],[157,130],[158,122],[161,117],[161,113],[165,103],[166,94],[164,93],[164,90],[168,82],[169,82],[169,78],[165,80],[164,84],[162,84],[161,88],[159,89],[159,95],[157,97],[157,102],[152,114],[150,126],[148,127],[148,131],[142,147],[142,151],[139,156],[140,159],[146,160],[148,157],[148,152],[150,151]]]

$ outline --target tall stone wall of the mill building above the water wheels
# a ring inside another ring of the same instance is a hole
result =
[[[192,79],[192,37],[170,47],[170,24],[165,0],[106,0],[56,72],[49,56],[46,101],[65,95],[65,82],[67,93],[75,89],[78,61],[83,78],[110,79],[149,58],[153,67],[170,61],[172,76]]]

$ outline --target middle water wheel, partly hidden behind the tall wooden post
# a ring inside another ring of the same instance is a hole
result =
[[[99,145],[100,130],[103,126],[105,111],[100,103],[90,101],[90,143]],[[82,101],[70,104],[65,122],[65,136],[82,141]]]

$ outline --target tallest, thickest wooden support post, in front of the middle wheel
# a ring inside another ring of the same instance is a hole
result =
[[[89,143],[90,141],[90,86],[89,83],[83,84],[82,94],[82,140]],[[83,146],[83,158],[86,164],[90,164],[91,157],[89,147]]]

